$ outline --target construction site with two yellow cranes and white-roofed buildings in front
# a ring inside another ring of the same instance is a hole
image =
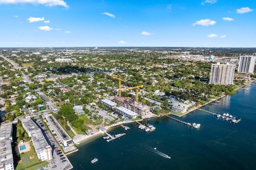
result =
[[[126,115],[130,118],[136,118],[138,115],[142,117],[148,117],[151,116],[152,113],[150,112],[150,107],[147,105],[144,105],[143,103],[138,101],[138,92],[139,88],[142,88],[143,85],[138,85],[135,87],[127,87],[127,88],[121,88],[121,81],[125,81],[121,79],[121,76],[116,77],[114,75],[108,74],[110,77],[113,77],[114,79],[118,79],[119,83],[119,89],[118,89],[118,96],[114,97],[110,100],[104,99],[102,103],[104,105],[107,105],[108,107],[116,108],[116,111],[121,113],[122,115]],[[133,97],[122,97],[121,92],[127,91],[131,89],[136,89],[136,96]],[[112,103],[111,103],[112,102]],[[114,104],[115,103],[115,104]],[[118,105],[118,107],[116,107]],[[127,110],[128,109],[128,110]]]

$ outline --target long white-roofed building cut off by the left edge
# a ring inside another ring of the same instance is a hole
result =
[[[12,156],[12,122],[1,123],[0,127],[0,169],[14,170]]]

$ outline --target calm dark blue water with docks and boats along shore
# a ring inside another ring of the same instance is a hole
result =
[[[219,106],[206,105],[201,109],[230,113],[242,118],[238,124],[217,119],[202,111],[193,111],[182,121],[200,123],[192,129],[167,117],[147,120],[156,127],[146,134],[136,123],[113,128],[110,134],[125,132],[113,142],[102,136],[78,147],[68,158],[74,170],[252,170],[256,169],[256,87],[240,89],[235,95],[220,99]],[[176,117],[177,118],[177,117]],[[168,155],[164,158],[151,148]],[[91,164],[93,158],[98,162]]]

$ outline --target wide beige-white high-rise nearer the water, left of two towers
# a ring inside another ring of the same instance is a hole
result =
[[[212,64],[210,74],[210,84],[231,85],[233,84],[235,64]]]

